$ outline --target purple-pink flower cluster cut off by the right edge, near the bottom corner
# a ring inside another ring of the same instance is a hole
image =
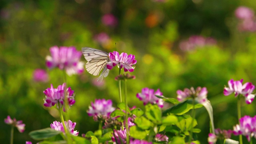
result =
[[[246,136],[248,142],[250,142],[251,137],[256,138],[256,116],[250,117],[250,116],[244,116],[240,118],[239,120],[240,124],[237,124],[234,126],[234,135],[240,135]]]

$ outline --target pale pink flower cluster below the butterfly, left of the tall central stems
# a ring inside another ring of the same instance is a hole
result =
[[[112,107],[112,100],[96,99],[94,103],[91,102],[87,114],[93,116],[94,121],[98,121],[99,119],[110,118],[110,114],[114,110],[115,108]]]

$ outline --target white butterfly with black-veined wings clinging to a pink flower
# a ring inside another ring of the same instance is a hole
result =
[[[106,66],[107,62],[110,61],[108,53],[88,47],[82,48],[82,52],[84,54],[84,58],[87,60],[85,68],[90,74],[98,76],[100,71],[103,69],[102,73],[97,79],[97,81],[101,82],[103,77],[106,78],[109,73],[109,69],[107,69]]]

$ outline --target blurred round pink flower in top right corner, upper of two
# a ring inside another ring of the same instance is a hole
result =
[[[240,6],[236,9],[235,15],[239,19],[252,19],[254,18],[254,11],[246,6]]]

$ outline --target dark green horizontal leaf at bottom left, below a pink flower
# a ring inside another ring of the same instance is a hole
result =
[[[44,128],[41,130],[34,130],[29,133],[30,137],[34,140],[45,140],[47,138],[51,138],[58,134],[62,133],[61,131],[53,130],[51,128]]]

